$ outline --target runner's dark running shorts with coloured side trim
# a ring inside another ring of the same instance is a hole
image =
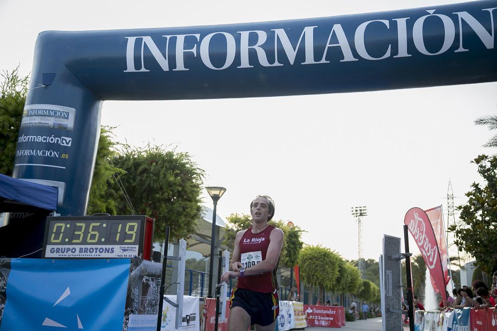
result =
[[[230,308],[241,307],[250,315],[250,324],[270,325],[279,314],[278,293],[259,293],[235,287],[231,292]]]

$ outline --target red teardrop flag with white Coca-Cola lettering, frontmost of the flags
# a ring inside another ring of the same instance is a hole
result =
[[[404,217],[404,224],[408,226],[414,241],[421,251],[424,263],[434,280],[436,290],[440,292],[443,301],[447,301],[445,293],[445,279],[443,275],[442,260],[438,251],[438,243],[426,212],[421,208],[411,208]]]

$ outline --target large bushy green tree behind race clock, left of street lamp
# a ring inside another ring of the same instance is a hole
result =
[[[123,146],[113,164],[126,172],[109,190],[108,199],[116,199],[118,214],[155,218],[154,239],[160,242],[164,241],[167,225],[171,240],[196,230],[202,214],[204,171],[188,153],[162,146]],[[123,188],[122,194],[115,193],[120,191],[116,184]]]

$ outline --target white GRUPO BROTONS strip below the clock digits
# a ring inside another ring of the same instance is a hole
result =
[[[47,245],[45,258],[135,258],[138,245]]]

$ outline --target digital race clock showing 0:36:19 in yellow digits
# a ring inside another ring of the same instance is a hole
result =
[[[147,216],[47,217],[42,257],[150,260],[153,233]]]

